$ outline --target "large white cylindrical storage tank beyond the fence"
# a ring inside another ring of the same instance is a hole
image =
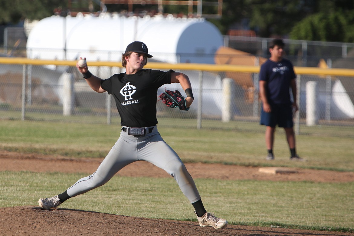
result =
[[[65,35],[65,36],[64,36]],[[27,40],[27,57],[44,60],[120,61],[125,47],[143,41],[153,60],[214,64],[221,32],[203,18],[125,17],[101,13],[40,20]]]

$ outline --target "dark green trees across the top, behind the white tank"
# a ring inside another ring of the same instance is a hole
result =
[[[216,0],[205,0],[216,1]],[[42,19],[53,10],[99,11],[98,0],[0,0],[0,25],[17,24],[28,18]],[[68,5],[70,4],[70,5]],[[110,12],[128,10],[128,5],[107,4]],[[158,11],[157,5],[133,5],[133,12]],[[186,5],[166,5],[164,12],[187,14]],[[196,7],[193,7],[194,13]],[[215,13],[205,6],[203,13]],[[290,35],[292,39],[354,42],[353,0],[223,0],[220,19],[207,19],[222,34],[229,29],[253,29],[257,36]]]

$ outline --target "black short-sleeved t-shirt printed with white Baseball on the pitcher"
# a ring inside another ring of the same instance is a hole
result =
[[[112,94],[121,118],[127,127],[150,127],[156,119],[157,90],[171,83],[171,72],[142,69],[135,74],[114,74],[101,80],[101,87]]]

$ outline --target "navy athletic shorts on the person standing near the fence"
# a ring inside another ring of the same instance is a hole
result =
[[[263,111],[261,109],[261,122],[260,124],[275,127],[277,124],[282,128],[292,128],[294,126],[292,118],[291,104],[271,104],[271,112]]]

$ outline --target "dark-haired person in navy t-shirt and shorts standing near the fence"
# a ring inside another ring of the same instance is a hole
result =
[[[273,160],[275,126],[284,128],[290,148],[290,159],[304,161],[296,153],[293,130],[293,110],[296,112],[296,74],[292,63],[283,58],[284,42],[273,39],[269,45],[270,58],[264,62],[259,72],[259,95],[262,100],[261,122],[265,125],[265,144],[268,149],[267,160]],[[291,88],[293,101],[290,99]]]

